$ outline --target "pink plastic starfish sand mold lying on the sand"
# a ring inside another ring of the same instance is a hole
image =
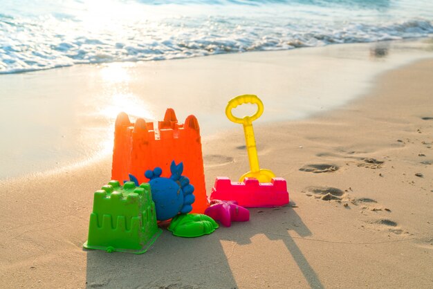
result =
[[[232,221],[250,221],[250,211],[237,205],[237,201],[213,200],[210,207],[205,210],[205,215],[219,221],[225,227],[230,227]]]

